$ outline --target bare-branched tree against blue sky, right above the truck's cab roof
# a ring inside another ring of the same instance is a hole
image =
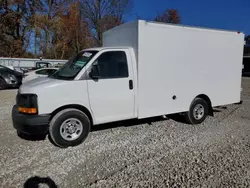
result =
[[[131,9],[131,0],[80,0],[82,16],[87,20],[97,45],[102,44],[102,33],[122,23]]]

